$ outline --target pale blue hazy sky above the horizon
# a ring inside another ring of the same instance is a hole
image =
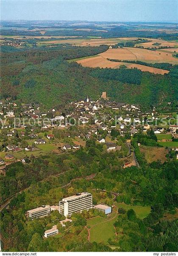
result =
[[[1,0],[1,20],[178,21],[178,0]]]

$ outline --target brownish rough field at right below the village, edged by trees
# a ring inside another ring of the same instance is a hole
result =
[[[164,163],[167,160],[166,148],[147,147],[147,146],[141,145],[140,151],[145,154],[145,159],[147,160],[148,163],[157,161],[157,160],[161,160],[161,162]]]

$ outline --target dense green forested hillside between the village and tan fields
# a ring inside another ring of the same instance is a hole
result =
[[[81,100],[89,93],[96,100],[102,91],[119,102],[138,103],[143,108],[177,102],[177,65],[167,75],[134,69],[83,68],[66,60],[95,55],[108,46],[31,49],[1,53],[1,99],[12,97],[47,108]]]

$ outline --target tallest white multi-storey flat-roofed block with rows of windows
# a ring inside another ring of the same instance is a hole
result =
[[[88,192],[76,193],[59,202],[59,212],[66,217],[90,208],[92,208],[92,194]]]

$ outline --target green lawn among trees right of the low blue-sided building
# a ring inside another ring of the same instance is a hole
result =
[[[133,209],[136,215],[140,219],[144,219],[150,213],[150,206],[140,206],[140,205],[126,205],[125,203],[115,203],[118,208],[122,207],[125,210]]]

